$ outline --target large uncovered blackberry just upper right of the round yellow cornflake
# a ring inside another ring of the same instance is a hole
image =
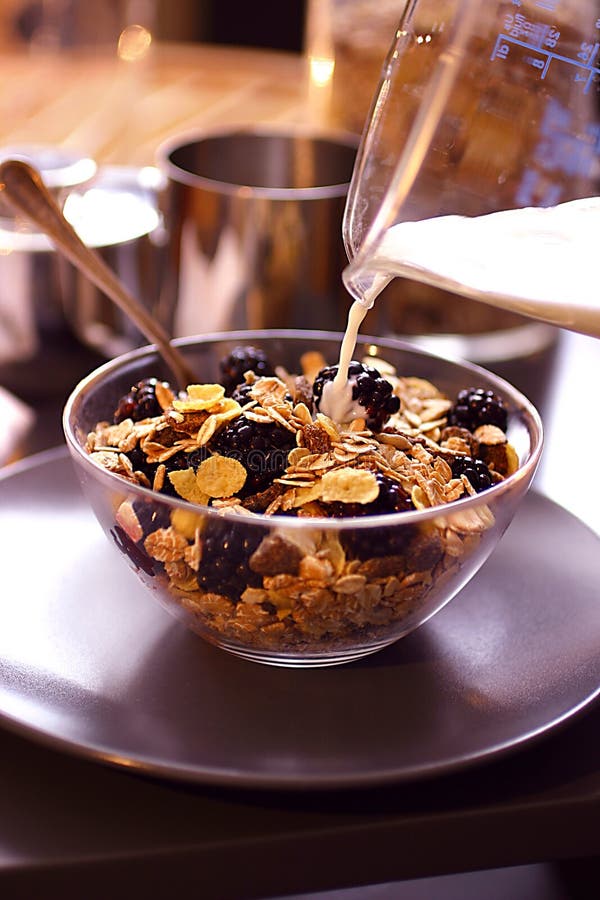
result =
[[[222,456],[237,459],[248,476],[239,496],[264,491],[274,478],[283,474],[290,450],[296,446],[296,436],[275,422],[259,424],[243,413],[219,431],[210,442],[210,449]]]

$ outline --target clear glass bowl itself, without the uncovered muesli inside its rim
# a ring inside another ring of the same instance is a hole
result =
[[[258,346],[275,364],[298,372],[300,357],[309,349],[322,353],[328,363],[337,362],[340,340],[341,335],[327,332],[253,331],[176,343],[198,381],[214,383],[219,360],[240,344]],[[516,471],[474,496],[391,515],[242,516],[128,482],[86,451],[88,433],[111,418],[133,384],[149,376],[168,380],[152,347],[103,365],[75,388],[66,404],[67,445],[115,552],[168,612],[238,656],[280,666],[326,666],[397,641],[442,609],[473,577],[531,484],[542,426],[532,404],[507,382],[469,363],[392,339],[361,337],[354,356],[384,359],[399,375],[428,379],[449,398],[472,386],[500,394],[509,410],[507,437],[518,455]],[[134,504],[143,522],[138,533],[127,528],[126,512]],[[152,535],[159,529],[163,537],[167,529],[169,541],[161,538],[157,551]],[[203,535],[214,535],[215,529],[225,539],[211,539],[209,545]],[[254,555],[249,564],[250,552],[265,547],[277,552]],[[176,565],[182,558],[192,568]],[[223,593],[200,589],[203,566],[223,573],[228,585]],[[234,569],[238,582],[242,580],[235,589]]]

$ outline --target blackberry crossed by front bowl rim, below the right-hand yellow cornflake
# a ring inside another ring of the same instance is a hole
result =
[[[379,494],[371,503],[329,503],[326,511],[329,516],[379,516],[389,513],[414,509],[413,503],[401,485],[381,472],[375,472],[379,484]],[[370,530],[357,528],[340,532],[340,540],[349,557],[355,559],[371,559],[372,557],[396,556],[406,551],[413,537],[413,529],[406,525],[386,528],[374,534]]]

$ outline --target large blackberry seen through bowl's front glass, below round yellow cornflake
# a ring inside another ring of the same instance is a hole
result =
[[[198,585],[211,594],[222,594],[237,603],[246,587],[259,587],[262,577],[248,560],[261,542],[260,529],[241,522],[210,519],[202,536],[202,560]]]

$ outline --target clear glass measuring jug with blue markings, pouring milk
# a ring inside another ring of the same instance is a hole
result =
[[[408,0],[343,223],[364,307],[401,275],[600,336],[596,0]]]

